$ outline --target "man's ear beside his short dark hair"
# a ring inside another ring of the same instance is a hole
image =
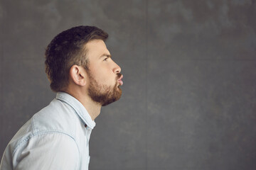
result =
[[[86,84],[86,72],[85,69],[78,65],[73,65],[70,68],[70,80],[78,86],[85,86]]]

